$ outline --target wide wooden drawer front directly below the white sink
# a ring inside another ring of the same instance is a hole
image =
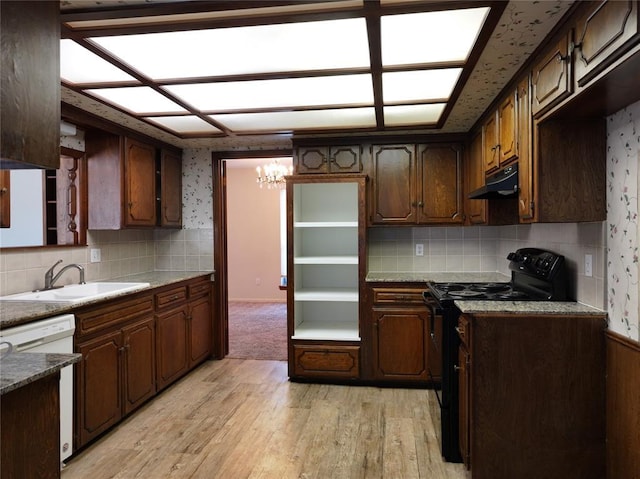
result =
[[[153,313],[151,295],[126,301],[113,302],[107,306],[76,313],[78,336],[106,329],[146,314]]]

